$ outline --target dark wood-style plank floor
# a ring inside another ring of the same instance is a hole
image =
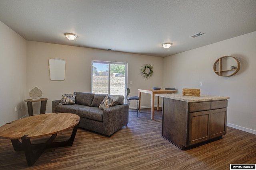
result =
[[[128,127],[112,137],[78,129],[72,147],[47,149],[31,167],[24,152],[15,152],[10,140],[0,139],[0,169],[229,170],[230,164],[256,164],[254,134],[228,127],[218,141],[180,150],[161,137],[161,111],[155,111],[154,120],[150,109],[142,109],[139,117],[134,111],[129,114]],[[66,139],[70,133],[62,132],[56,140]]]

